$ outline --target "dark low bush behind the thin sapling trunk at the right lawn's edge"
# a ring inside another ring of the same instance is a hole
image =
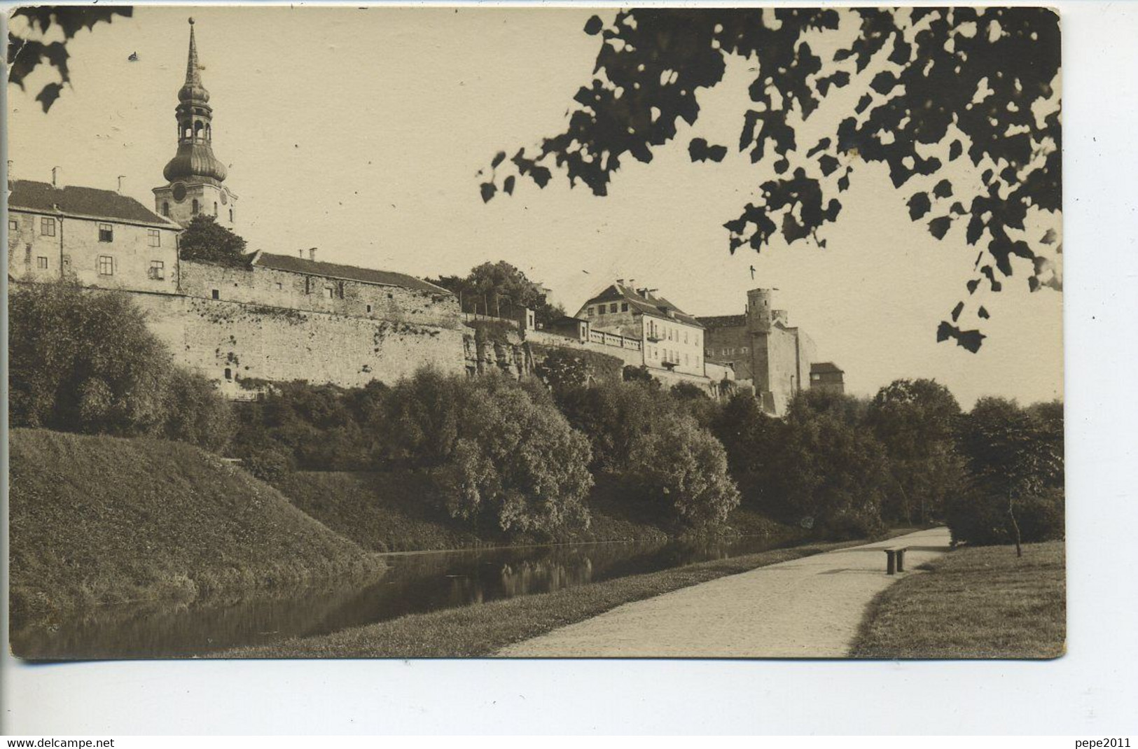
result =
[[[1015,501],[1015,520],[1022,543],[1057,541],[1064,537],[1064,497],[1058,488]],[[1004,495],[974,491],[949,503],[948,528],[956,543],[978,546],[1015,543]]]

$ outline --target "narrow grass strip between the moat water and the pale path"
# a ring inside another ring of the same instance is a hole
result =
[[[456,658],[489,656],[558,627],[688,585],[799,559],[861,541],[777,549],[634,575],[552,593],[415,614],[329,635],[214,653],[220,658]]]

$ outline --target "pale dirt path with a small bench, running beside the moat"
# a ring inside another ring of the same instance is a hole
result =
[[[947,528],[805,557],[626,603],[505,648],[511,658],[841,658],[866,606],[906,570],[948,551]]]

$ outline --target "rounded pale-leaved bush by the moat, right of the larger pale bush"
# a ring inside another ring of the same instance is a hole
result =
[[[718,525],[739,507],[723,445],[693,419],[669,415],[636,439],[629,462],[645,497],[674,521],[693,528]]]

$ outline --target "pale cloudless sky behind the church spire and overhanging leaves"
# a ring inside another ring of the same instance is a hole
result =
[[[536,146],[563,126],[592,75],[597,38],[582,27],[593,13],[135,7],[133,18],[73,40],[72,87],[50,114],[34,101],[53,80],[47,66],[26,93],[8,88],[13,172],[48,181],[59,166],[66,183],[107,189],[124,175],[125,191],[152,208],[150,188],[164,183],[176,148],[193,15],[214,153],[230,167],[225,184],[240,197],[238,231],[250,249],[316,246],[321,260],[415,275],[505,260],[570,313],[616,278],[658,288],[698,315],[741,313],[748,288],[774,287],[776,306],[809,332],[822,360],[846,370],[851,393],[932,377],[964,408],[980,395],[1062,395],[1062,295],[1029,294],[1030,263],[1014,263],[1004,291],[983,296],[991,319],[978,354],[935,343],[976,250],[963,227],[937,241],[909,221],[916,181],[898,192],[884,168],[861,164],[841,195],[841,217],[820,234],[826,249],[776,238],[761,255],[728,254],[721,224],[774,173],[734,148],[723,164],[691,164],[686,147],[693,137],[737,143],[753,75],[745,60],[699,93],[696,125],[682,124],[651,164],[626,158],[608,197],[555,178],[483,204],[477,172],[496,151]],[[132,52],[138,61],[127,61]],[[855,81],[810,125],[825,127],[861,91]],[[954,174],[958,186],[975,179]],[[1036,236],[1056,227],[1048,216],[1034,222]],[[962,327],[974,327],[973,312]]]

